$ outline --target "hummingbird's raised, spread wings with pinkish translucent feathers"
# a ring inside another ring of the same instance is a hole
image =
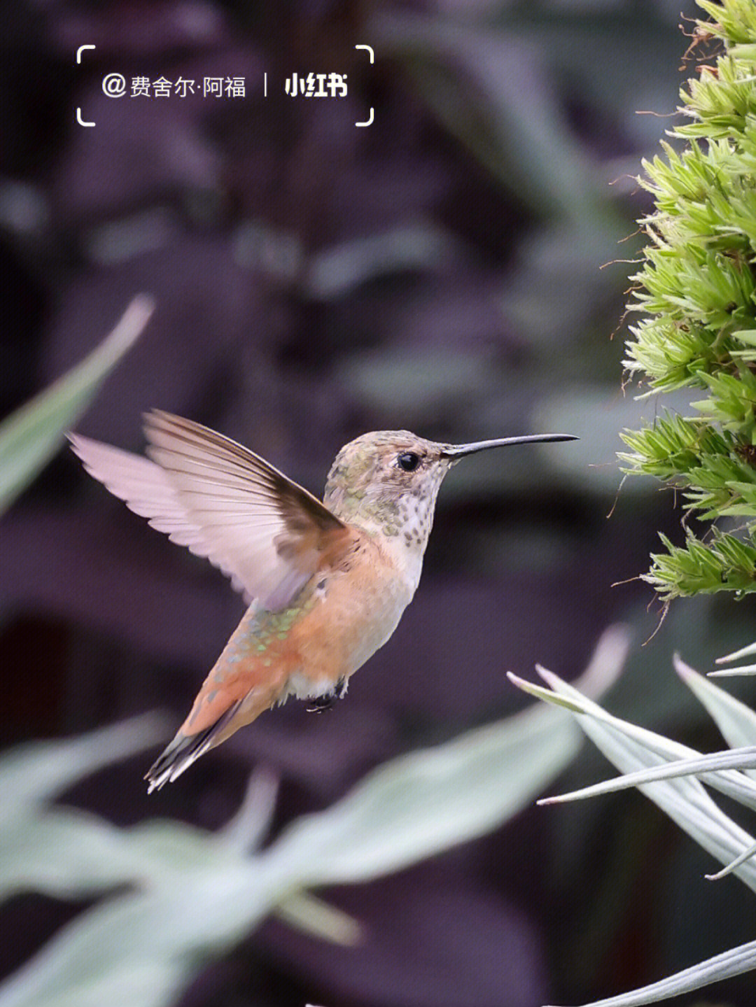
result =
[[[253,451],[157,410],[149,458],[71,434],[85,468],[171,542],[205,556],[270,611],[285,608],[348,530]]]

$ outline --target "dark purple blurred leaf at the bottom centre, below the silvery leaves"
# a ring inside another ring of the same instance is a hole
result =
[[[255,946],[286,962],[301,989],[327,990],[334,1005],[545,1003],[548,979],[530,913],[472,881],[470,867],[467,857],[447,856],[367,886],[340,887],[339,905],[362,925],[356,948],[325,948],[278,920],[265,924]]]

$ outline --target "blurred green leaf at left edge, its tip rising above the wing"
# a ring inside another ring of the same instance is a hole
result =
[[[97,349],[0,423],[0,513],[52,457],[64,431],[73,426],[101,383],[140,335],[152,310],[149,297],[135,297]]]

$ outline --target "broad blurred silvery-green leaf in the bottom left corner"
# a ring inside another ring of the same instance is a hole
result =
[[[256,857],[206,862],[109,899],[7,979],[0,1007],[166,1007],[198,964],[238,943],[287,895],[286,879]]]

